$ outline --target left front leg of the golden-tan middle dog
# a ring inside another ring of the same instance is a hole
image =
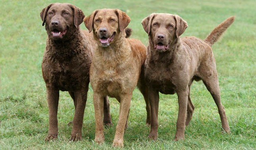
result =
[[[103,132],[103,122],[102,114],[104,107],[104,96],[98,94],[97,92],[93,93],[93,105],[95,112],[95,139],[97,143],[104,142],[104,132]]]

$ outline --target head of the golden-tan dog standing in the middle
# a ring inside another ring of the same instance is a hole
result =
[[[85,26],[89,32],[93,30],[94,38],[101,47],[114,43],[130,21],[130,17],[119,9],[98,9],[84,19]]]

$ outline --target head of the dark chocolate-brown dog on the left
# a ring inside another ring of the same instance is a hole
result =
[[[40,17],[50,39],[63,39],[79,28],[85,15],[72,4],[53,3],[42,9]]]

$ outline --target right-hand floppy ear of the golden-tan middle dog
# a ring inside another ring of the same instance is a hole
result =
[[[115,9],[115,14],[117,15],[117,18],[118,18],[119,30],[120,32],[123,32],[123,30],[125,30],[125,28],[130,23],[131,18],[125,12],[119,9]]]

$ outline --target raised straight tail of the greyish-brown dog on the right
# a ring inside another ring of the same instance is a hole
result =
[[[204,39],[204,42],[212,46],[221,35],[227,30],[227,28],[235,21],[235,16],[231,16],[219,24],[212,32]]]

